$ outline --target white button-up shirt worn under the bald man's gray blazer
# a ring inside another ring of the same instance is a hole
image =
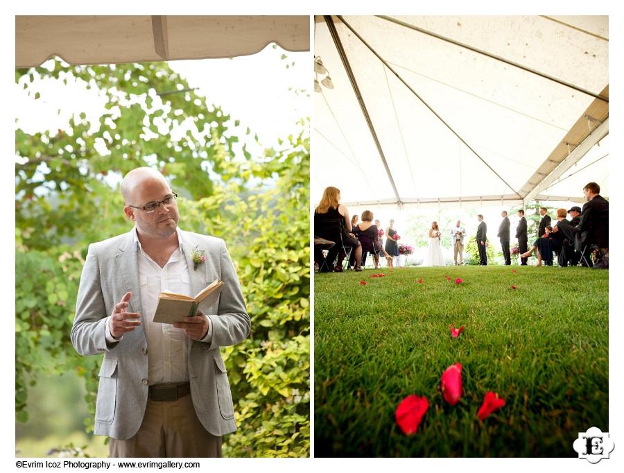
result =
[[[189,338],[183,329],[176,329],[171,324],[154,322],[154,314],[158,305],[158,293],[171,291],[178,294],[191,295],[191,279],[189,268],[184,259],[180,230],[177,231],[179,246],[172,253],[167,263],[161,268],[150,258],[141,247],[136,232],[135,245],[139,248],[139,283],[140,297],[143,307],[144,331],[148,342],[148,381],[150,386],[162,383],[189,381],[187,367],[187,350]],[[204,338],[210,338],[207,334]],[[110,333],[106,324],[106,338],[109,342],[119,341]]]

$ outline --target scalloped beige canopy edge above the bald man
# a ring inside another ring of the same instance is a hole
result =
[[[276,42],[309,51],[308,16],[16,16],[15,63],[70,64],[232,58]]]

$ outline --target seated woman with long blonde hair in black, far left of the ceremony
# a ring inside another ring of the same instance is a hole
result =
[[[344,225],[342,225],[343,222]],[[336,223],[341,223],[341,225]],[[314,235],[336,243],[329,249],[326,260],[327,266],[331,268],[334,261],[336,261],[336,257],[338,257],[336,266],[333,266],[333,270],[338,273],[343,270],[343,259],[346,256],[343,246],[340,244],[341,239],[345,248],[351,247],[352,252],[355,252],[355,270],[362,270],[360,266],[362,247],[352,230],[349,210],[340,203],[340,189],[327,187],[323,191],[318,207],[314,210]],[[319,262],[319,266],[323,265]]]

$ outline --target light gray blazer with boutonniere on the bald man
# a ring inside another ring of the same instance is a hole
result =
[[[141,427],[148,400],[147,338],[139,294],[139,249],[132,232],[89,245],[80,276],[76,318],[71,343],[81,355],[104,354],[96,404],[96,435],[116,439],[135,436]],[[214,279],[225,284],[218,301],[200,310],[209,320],[208,342],[189,340],[188,366],[191,399],[197,416],[209,433],[222,436],[236,430],[234,404],[219,347],[243,341],[250,333],[250,318],[236,270],[225,242],[214,236],[182,232],[184,257],[189,267],[191,294]],[[193,270],[191,251],[205,250],[206,262]],[[141,313],[141,326],[107,343],[105,319],[123,295],[132,291],[129,312]]]

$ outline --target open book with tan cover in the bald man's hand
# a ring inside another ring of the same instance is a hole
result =
[[[207,306],[214,304],[223,287],[223,281],[216,279],[202,289],[198,295],[191,298],[190,295],[176,294],[169,291],[158,293],[158,307],[154,314],[154,322],[173,324],[182,322],[185,317],[193,317],[197,308],[204,300]]]

